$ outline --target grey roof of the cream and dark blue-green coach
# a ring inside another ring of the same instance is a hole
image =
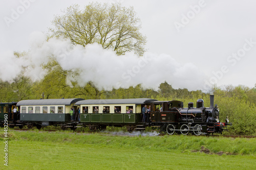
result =
[[[84,99],[40,99],[19,101],[17,106],[35,106],[35,105],[71,105]]]

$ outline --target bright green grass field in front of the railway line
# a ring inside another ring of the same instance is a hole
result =
[[[3,134],[2,129],[4,157]],[[0,169],[256,169],[256,139],[11,130],[8,135],[8,168],[2,161]],[[207,152],[199,152],[202,146]]]

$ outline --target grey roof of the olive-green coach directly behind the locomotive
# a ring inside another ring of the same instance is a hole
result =
[[[101,100],[84,100],[76,102],[75,105],[101,105],[101,104],[149,104],[154,99],[139,98],[139,99],[101,99]]]

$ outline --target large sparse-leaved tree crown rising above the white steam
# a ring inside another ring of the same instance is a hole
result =
[[[131,51],[142,55],[145,51],[146,37],[139,32],[140,19],[133,7],[92,3],[84,9],[72,5],[62,12],[52,21],[51,36],[69,38],[74,45],[96,42],[117,55]]]

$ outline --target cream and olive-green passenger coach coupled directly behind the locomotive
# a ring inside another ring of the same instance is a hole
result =
[[[156,101],[140,99],[83,100],[75,103],[80,107],[80,123],[91,130],[106,126],[123,127],[132,130],[142,123],[142,107]],[[103,111],[106,110],[106,111]]]

